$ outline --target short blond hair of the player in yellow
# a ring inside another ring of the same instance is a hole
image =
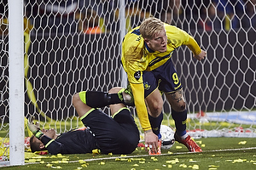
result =
[[[164,27],[164,23],[160,19],[150,17],[146,20],[143,20],[142,25],[140,26],[140,32],[143,38],[152,39],[154,34],[161,31]]]

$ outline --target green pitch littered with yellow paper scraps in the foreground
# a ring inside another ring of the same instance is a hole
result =
[[[26,164],[1,169],[223,169],[256,168],[256,141],[252,138],[202,138],[195,139],[203,152],[190,153],[183,144],[175,143],[171,149],[162,150],[160,156],[148,156],[138,147],[131,155],[57,155],[39,156],[26,153]]]

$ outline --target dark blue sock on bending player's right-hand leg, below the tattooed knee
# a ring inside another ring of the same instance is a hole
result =
[[[175,122],[177,136],[184,136],[187,133],[187,110],[181,112],[172,110],[172,119]]]

